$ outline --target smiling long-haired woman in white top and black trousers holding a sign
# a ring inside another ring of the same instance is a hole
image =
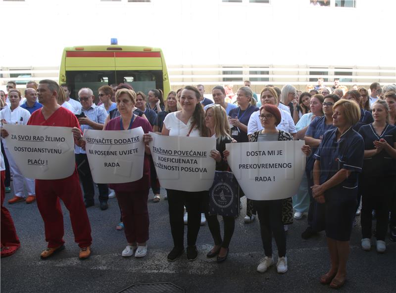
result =
[[[165,117],[161,134],[166,136],[208,137],[209,131],[205,125],[205,113],[199,99],[199,91],[195,87],[186,86],[180,97],[182,110],[169,113]],[[201,212],[207,209],[209,192],[184,192],[168,189],[167,194],[169,221],[174,243],[173,249],[168,254],[168,260],[176,260],[184,251],[183,213],[185,205],[188,212],[187,259],[193,261],[198,257],[196,241],[201,222]]]

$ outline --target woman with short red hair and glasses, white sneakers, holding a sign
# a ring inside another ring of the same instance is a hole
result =
[[[273,93],[270,92],[272,95]],[[277,125],[282,120],[281,110],[274,104],[265,103],[259,111],[262,130],[255,131],[250,142],[272,142],[272,141],[293,141],[293,136],[287,132],[277,129]],[[308,154],[310,148],[303,146],[301,150]],[[225,155],[228,155],[226,153]],[[272,257],[272,235],[278,247],[278,262],[276,265],[278,273],[286,273],[288,262],[286,257],[286,232],[282,222],[282,206],[284,199],[275,200],[251,200],[257,210],[260,220],[261,240],[264,247],[265,257],[260,260],[257,271],[264,273],[274,264]]]

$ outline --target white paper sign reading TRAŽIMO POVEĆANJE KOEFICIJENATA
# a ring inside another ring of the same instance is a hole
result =
[[[216,149],[215,138],[149,134],[161,187],[189,192],[209,190],[216,169],[216,162],[210,157],[210,151]]]

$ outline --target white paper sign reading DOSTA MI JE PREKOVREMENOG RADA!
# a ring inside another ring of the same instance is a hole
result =
[[[227,158],[249,199],[282,199],[295,195],[305,172],[304,141],[226,144]]]

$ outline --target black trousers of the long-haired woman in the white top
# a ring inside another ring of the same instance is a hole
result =
[[[201,213],[208,206],[209,192],[184,192],[167,189],[169,206],[169,223],[174,246],[184,248],[184,206],[188,212],[187,245],[194,246],[197,242]]]

